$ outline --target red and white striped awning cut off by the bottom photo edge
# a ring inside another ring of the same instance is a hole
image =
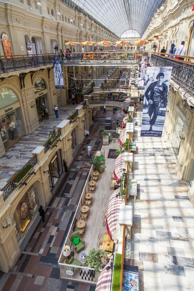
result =
[[[97,286],[95,291],[110,291],[111,290],[111,277],[112,277],[112,269],[106,270],[106,268],[110,266],[111,262],[109,262],[106,267],[102,270],[97,280]]]

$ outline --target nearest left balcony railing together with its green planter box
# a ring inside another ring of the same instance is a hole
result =
[[[3,192],[3,200],[5,201],[10,194],[19,186],[27,184],[25,181],[27,178],[35,174],[33,167],[37,164],[37,156],[34,155],[22,168],[17,172],[9,182],[1,189]]]

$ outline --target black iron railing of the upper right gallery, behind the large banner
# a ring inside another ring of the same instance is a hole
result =
[[[179,86],[185,87],[185,91],[194,94],[194,64],[191,62],[181,62],[177,59],[151,55],[151,63],[155,66],[172,66],[172,79]]]

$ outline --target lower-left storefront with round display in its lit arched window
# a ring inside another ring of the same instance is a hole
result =
[[[17,241],[24,236],[25,230],[38,210],[35,187],[32,186],[22,197],[13,217]]]

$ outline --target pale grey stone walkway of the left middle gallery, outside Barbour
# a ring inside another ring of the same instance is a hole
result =
[[[21,169],[32,158],[32,151],[37,146],[43,146],[48,139],[49,131],[73,114],[77,106],[78,104],[61,107],[59,109],[59,119],[56,119],[55,114],[49,116],[49,119],[41,122],[39,128],[33,133],[24,136],[6,151],[5,155],[0,158],[0,189],[6,185],[8,179],[17,170]]]

